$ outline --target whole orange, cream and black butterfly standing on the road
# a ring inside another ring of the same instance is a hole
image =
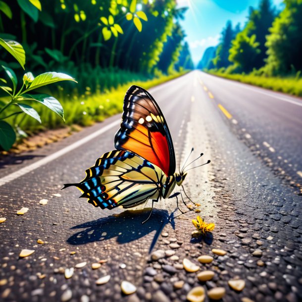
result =
[[[114,147],[116,150],[104,153],[86,170],[85,179],[65,184],[63,189],[76,186],[82,192],[80,197],[101,209],[130,208],[149,199],[170,197],[176,184],[182,185],[189,170],[185,168],[192,163],[175,172],[175,152],[165,118],[151,94],[135,85],[126,93]]]

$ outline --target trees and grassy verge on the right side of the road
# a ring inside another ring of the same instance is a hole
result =
[[[198,68],[210,73],[302,96],[302,0],[270,0],[250,7],[241,27],[228,21],[220,43],[205,50]]]

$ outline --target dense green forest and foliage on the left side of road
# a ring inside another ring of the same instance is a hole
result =
[[[185,11],[175,0],[1,0],[2,149],[101,121],[122,110],[132,82],[149,88],[194,68]]]

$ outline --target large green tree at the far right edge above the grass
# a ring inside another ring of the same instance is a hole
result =
[[[269,74],[302,70],[302,0],[286,0],[285,3],[265,44],[268,48],[265,70]]]

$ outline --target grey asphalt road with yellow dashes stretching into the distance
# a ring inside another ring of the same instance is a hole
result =
[[[176,302],[186,301],[190,289],[202,285],[206,291],[224,287],[225,302],[298,302],[302,102],[199,71],[150,92],[169,125],[177,163],[192,147],[205,154],[204,161],[211,159],[191,170],[184,185],[194,202],[186,199],[187,206],[215,223],[212,238],[191,239],[197,214],[176,217],[174,199],[158,202],[142,225],[151,202],[145,208],[109,211],[78,199],[75,188],[60,191],[62,184],[83,179],[85,169],[113,149],[118,114],[39,151],[2,160],[1,299]],[[48,203],[39,204],[42,199]],[[21,207],[29,210],[17,216]],[[45,243],[37,244],[38,239]],[[216,256],[213,248],[227,253]],[[22,249],[35,252],[19,258]],[[165,254],[159,256],[158,250]],[[153,260],[150,252],[155,252]],[[201,264],[201,254],[214,260]],[[213,270],[213,279],[200,282],[197,273],[186,272],[184,257],[200,270]],[[100,260],[107,261],[93,270],[92,263]],[[82,262],[86,265],[75,268]],[[69,279],[66,268],[74,268]],[[109,282],[96,285],[105,275],[111,276]],[[242,292],[228,286],[237,278],[245,280]],[[121,294],[123,280],[137,287],[135,294]]]

